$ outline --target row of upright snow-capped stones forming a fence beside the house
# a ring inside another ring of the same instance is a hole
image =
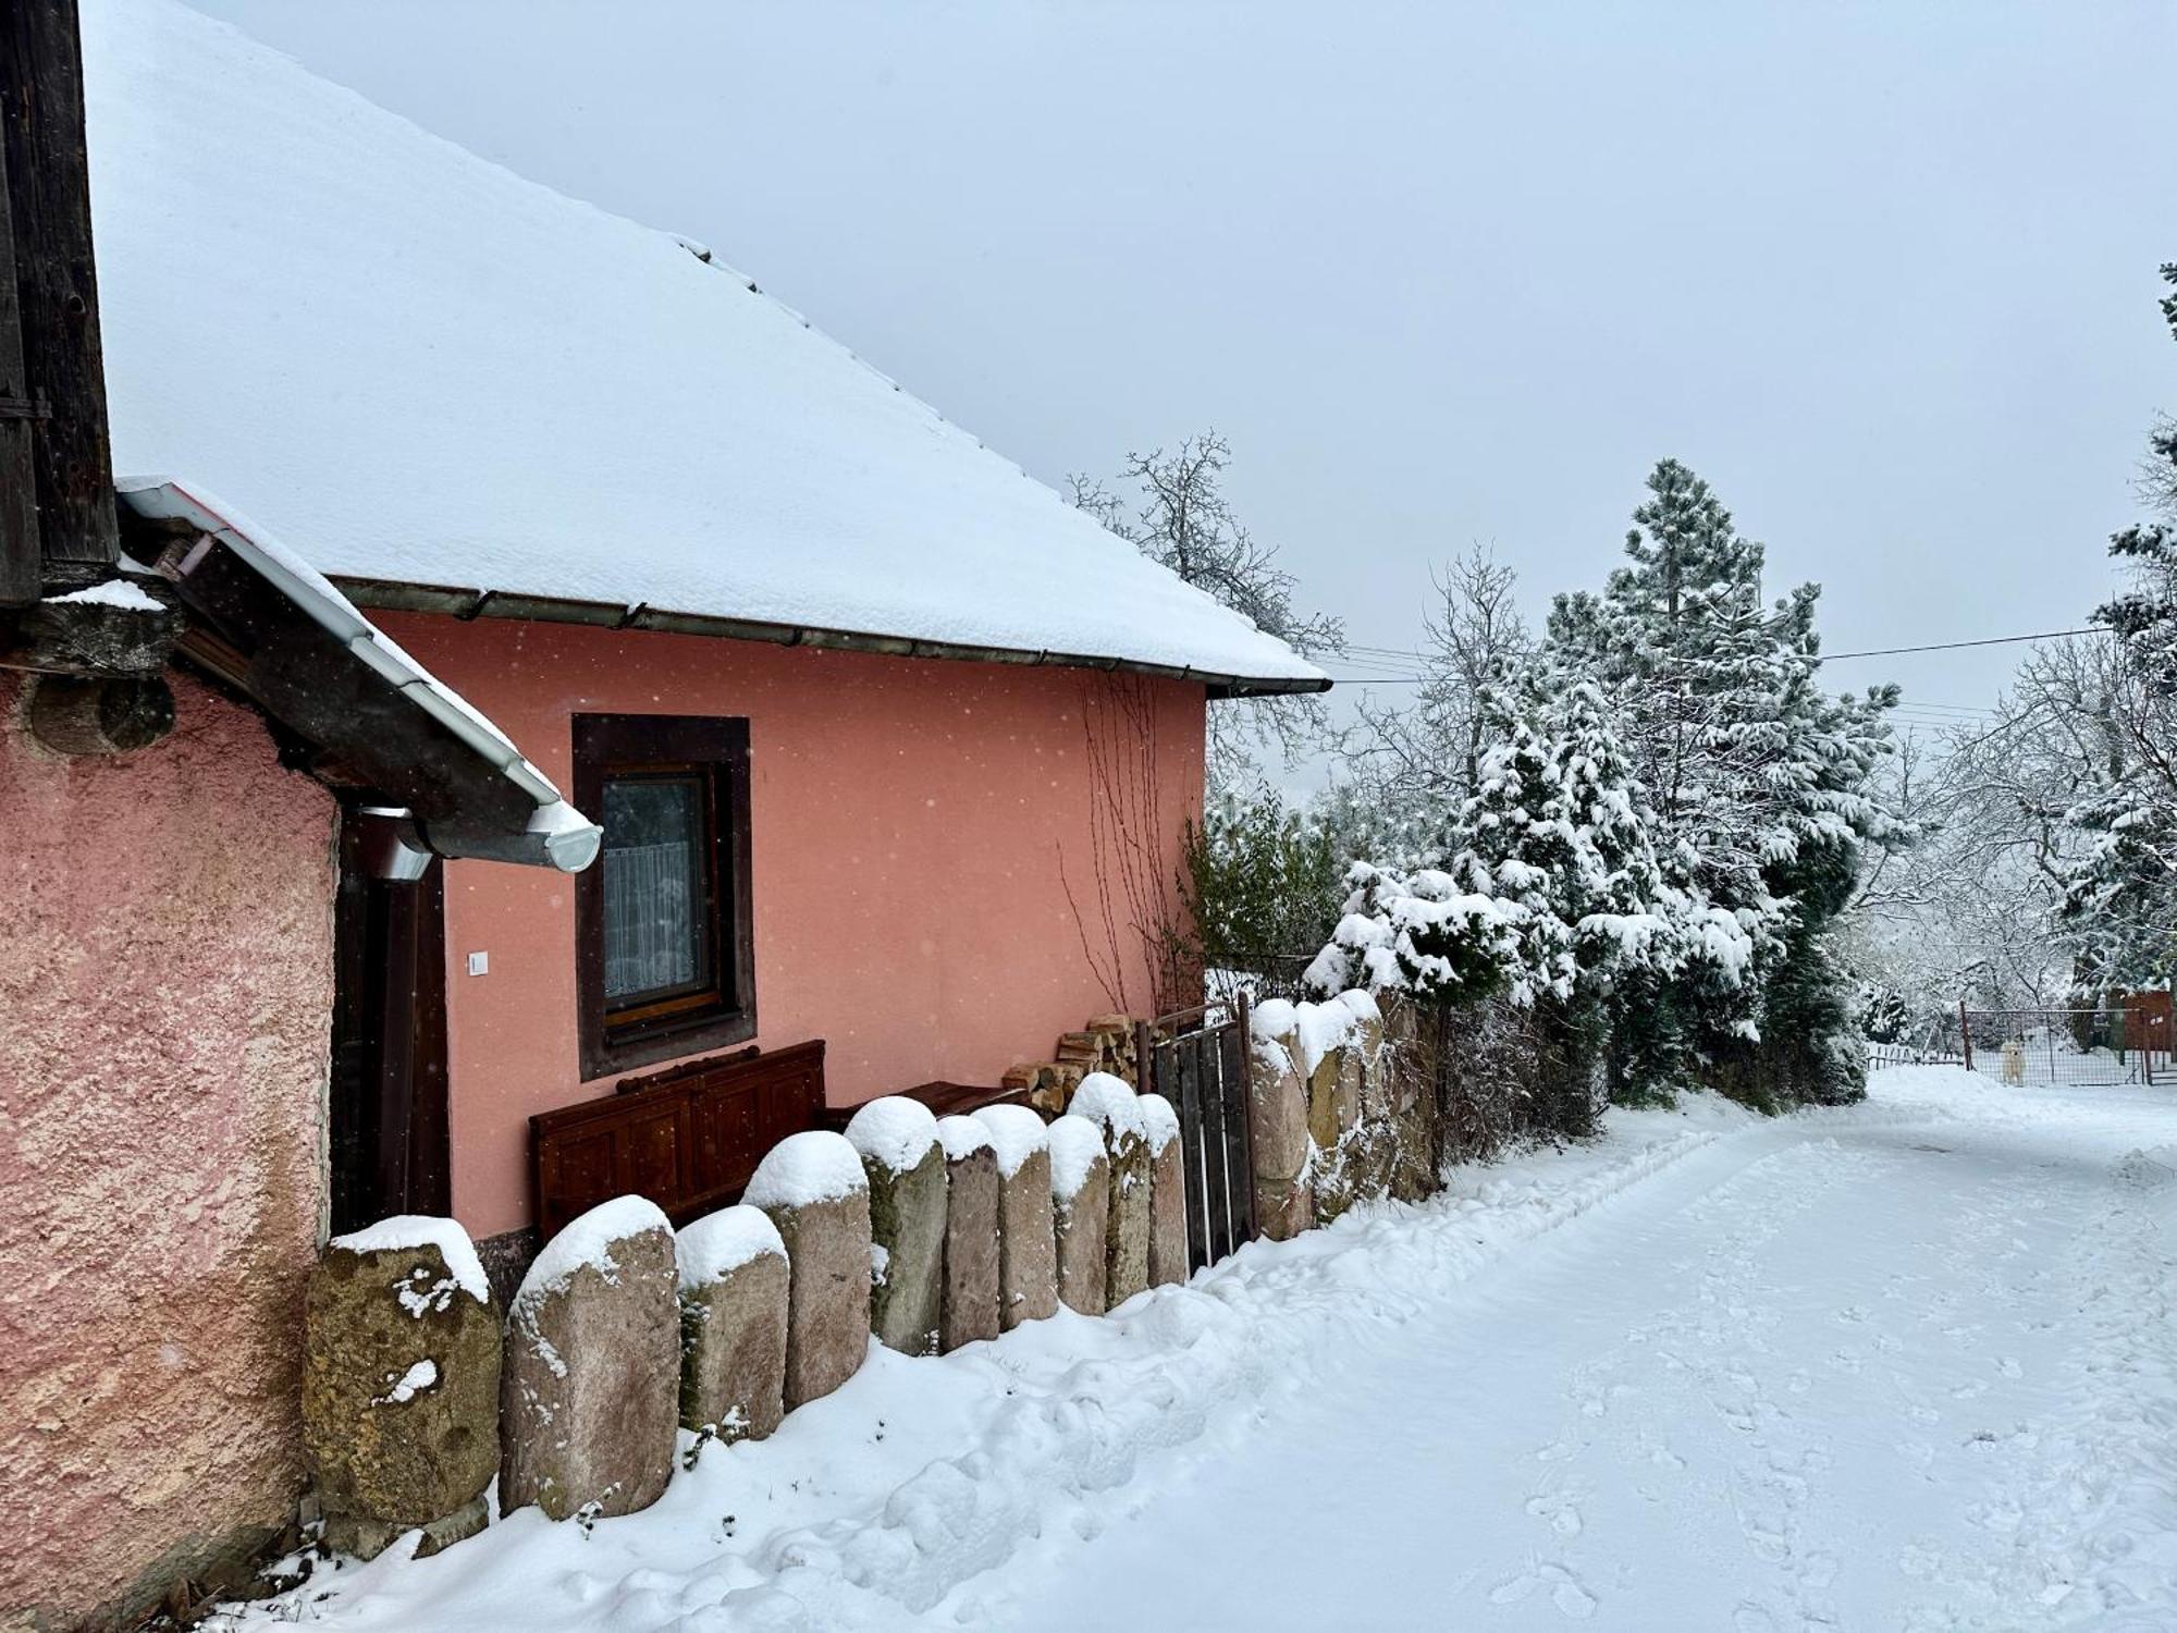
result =
[[[1252,1058],[1265,1235],[1435,1189],[1432,1095],[1404,1015],[1380,1015],[1363,993],[1263,1004]],[[1071,1104],[1049,1124],[1017,1104],[938,1124],[917,1102],[882,1097],[845,1137],[788,1137],[745,1206],[679,1232],[636,1198],[594,1208],[544,1245],[514,1300],[496,1422],[457,1424],[479,1407],[453,1393],[431,1411],[388,1407],[374,1378],[390,1380],[398,1356],[388,1359],[379,1328],[355,1343],[318,1324],[313,1363],[320,1348],[372,1356],[359,1387],[311,1396],[313,1409],[335,1407],[331,1422],[311,1422],[311,1444],[335,1448],[320,1468],[355,1461],[340,1454],[342,1435],[368,1439],[374,1465],[405,1468],[414,1448],[388,1446],[390,1435],[459,1431],[503,1446],[503,1502],[588,1524],[655,1502],[705,1441],[760,1439],[782,1409],[851,1383],[871,1337],[921,1356],[1047,1319],[1060,1302],[1102,1315],[1160,1298],[1186,1276],[1180,1119],[1112,1073],[1086,1073]],[[453,1221],[392,1226],[396,1237],[459,1232]],[[344,1256],[353,1250],[333,1243],[320,1276],[340,1274]],[[475,1263],[466,1239],[446,1261]],[[673,1276],[677,1367],[660,1348],[668,1302],[647,1291]],[[481,1267],[472,1280],[490,1298]],[[383,1324],[383,1311],[355,1319]],[[414,1337],[429,1335],[418,1326]],[[675,1420],[684,1437],[668,1446]],[[422,1524],[466,1491],[431,1485],[409,1507]],[[446,1524],[427,1544],[455,1535]]]

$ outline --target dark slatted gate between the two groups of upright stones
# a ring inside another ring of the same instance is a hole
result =
[[[1186,1176],[1186,1269],[1254,1241],[1254,1128],[1247,1119],[1247,995],[1141,1021],[1145,1093],[1180,1113]]]

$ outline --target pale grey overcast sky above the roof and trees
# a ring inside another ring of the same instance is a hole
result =
[[[1469,540],[1530,612],[1600,584],[1661,455],[1829,651],[2068,627],[2177,409],[2162,0],[196,4],[712,244],[1051,483],[1215,425],[1380,647]],[[1985,708],[2018,651],[1833,679]]]

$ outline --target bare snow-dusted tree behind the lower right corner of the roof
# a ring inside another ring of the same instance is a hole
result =
[[[1073,503],[1300,655],[1343,651],[1343,625],[1324,612],[1300,612],[1293,603],[1297,579],[1278,566],[1276,547],[1258,542],[1232,512],[1223,494],[1230,462],[1232,446],[1217,431],[1204,431],[1171,453],[1126,455],[1119,479],[1132,496],[1093,477],[1071,477]],[[1330,714],[1317,695],[1221,703],[1210,710],[1210,786],[1243,790],[1258,782],[1258,749],[1276,749],[1293,764],[1328,736]]]

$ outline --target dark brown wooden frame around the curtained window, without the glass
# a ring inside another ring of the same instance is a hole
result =
[[[710,823],[705,899],[712,982],[623,1015],[605,1002],[605,858],[575,875],[581,1076],[679,1060],[755,1036],[755,914],[749,888],[749,721],[699,714],[577,714],[575,806],[603,821],[605,782],[694,773]]]

